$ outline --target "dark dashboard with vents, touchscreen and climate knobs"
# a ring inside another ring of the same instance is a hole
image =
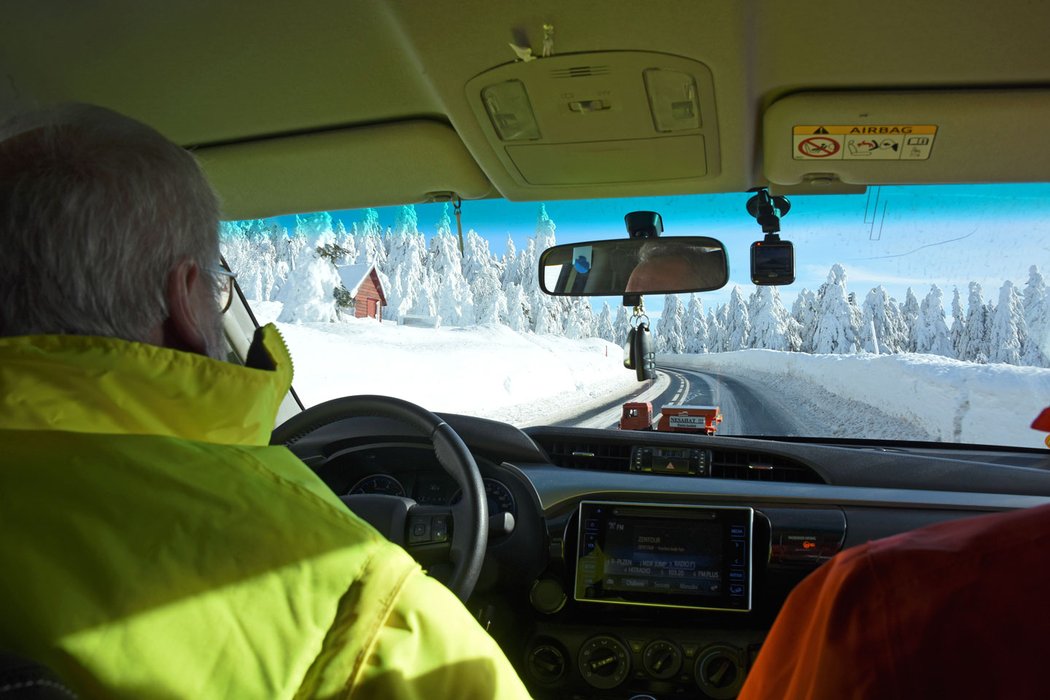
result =
[[[788,594],[837,552],[1050,503],[1037,450],[442,418],[474,454],[490,509],[468,607],[533,696],[552,700],[733,698]],[[339,494],[457,497],[429,443],[384,419],[290,447]]]

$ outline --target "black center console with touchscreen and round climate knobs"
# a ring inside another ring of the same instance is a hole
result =
[[[545,699],[736,697],[783,597],[845,530],[838,509],[608,500],[547,525],[523,659]]]

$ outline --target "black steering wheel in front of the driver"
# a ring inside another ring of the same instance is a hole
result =
[[[463,495],[453,506],[422,506],[412,499],[382,494],[342,495],[359,517],[417,559],[438,551],[452,564],[446,586],[466,601],[478,582],[488,545],[488,502],[478,464],[452,427],[414,403],[384,396],[352,396],[307,408],[273,431],[271,445],[291,447],[315,430],[348,418],[388,418],[428,438],[438,462]],[[452,546],[448,546],[450,535]]]

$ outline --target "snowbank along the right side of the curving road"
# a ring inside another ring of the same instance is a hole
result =
[[[749,349],[677,355],[673,361],[711,373],[751,377],[781,404],[800,402],[830,417],[816,434],[886,437],[1044,447],[1030,425],[1050,401],[1050,369],[974,364],[932,355],[803,355]],[[857,404],[860,404],[858,406]],[[876,427],[870,409],[901,422]]]

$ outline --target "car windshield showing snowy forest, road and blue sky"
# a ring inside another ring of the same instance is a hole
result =
[[[783,287],[751,281],[762,234],[749,196],[228,221],[223,252],[258,321],[285,336],[308,406],[383,394],[518,426],[1043,446],[1029,426],[1050,397],[1050,186],[791,197]],[[646,296],[642,316],[621,297],[539,289],[543,250],[626,238],[636,210],[658,212],[664,236],[721,240],[729,284]],[[640,382],[624,348],[639,324],[657,353]]]

